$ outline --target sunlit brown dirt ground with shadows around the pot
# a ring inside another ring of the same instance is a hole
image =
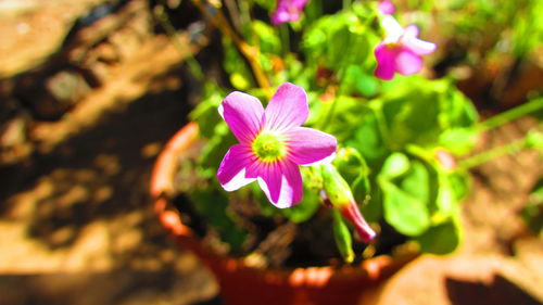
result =
[[[0,43],[7,103],[15,80],[36,67],[47,71],[43,63],[59,53],[87,5],[104,1],[56,2],[67,5],[62,14],[39,1],[0,0],[0,28],[11,35]],[[99,81],[77,103],[25,104],[31,115],[2,116],[8,123],[0,139],[0,305],[222,304],[213,277],[169,241],[150,205],[154,158],[187,122],[194,85],[184,76],[188,53],[153,34],[146,26],[149,12],[135,13],[144,11],[137,7],[144,1],[134,2],[136,8],[117,13],[124,23],[93,25],[93,33],[113,27],[125,34],[100,37],[108,43],[89,47],[110,61],[78,62]],[[137,28],[137,39],[126,28]],[[63,56],[92,41],[85,37],[77,36]],[[17,51],[34,45],[40,48]],[[111,55],[108,46],[122,48]],[[31,75],[48,81],[55,73]],[[61,118],[34,119],[59,112]],[[518,139],[535,125],[525,118],[487,132],[478,150]],[[542,169],[534,151],[475,168],[472,193],[463,205],[462,249],[416,259],[362,304],[541,304],[543,242],[527,232],[519,211]]]

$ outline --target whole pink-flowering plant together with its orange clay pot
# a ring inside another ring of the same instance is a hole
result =
[[[276,27],[238,35],[193,1],[225,34],[236,90],[206,81],[156,161],[155,211],[227,304],[356,304],[418,253],[460,243],[472,163],[457,160],[484,128],[452,78],[416,75],[435,45],[390,5],[256,2]]]

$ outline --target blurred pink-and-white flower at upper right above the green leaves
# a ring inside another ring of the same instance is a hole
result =
[[[422,68],[422,55],[435,51],[435,43],[418,39],[418,27],[408,25],[405,29],[387,15],[382,20],[387,37],[375,49],[377,69],[375,75],[381,79],[392,79],[394,72],[412,75]]]

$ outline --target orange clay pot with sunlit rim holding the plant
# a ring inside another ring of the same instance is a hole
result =
[[[358,304],[368,289],[415,258],[415,254],[402,257],[382,255],[358,266],[341,268],[258,269],[245,265],[242,259],[213,252],[180,221],[178,212],[168,207],[179,155],[193,149],[197,139],[198,125],[190,123],[168,141],[152,173],[151,195],[162,226],[181,247],[193,252],[212,270],[226,304]]]

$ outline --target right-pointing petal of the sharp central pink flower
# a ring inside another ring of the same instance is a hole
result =
[[[329,163],[336,156],[338,140],[336,137],[317,129],[296,127],[287,136],[288,158],[299,165]]]

